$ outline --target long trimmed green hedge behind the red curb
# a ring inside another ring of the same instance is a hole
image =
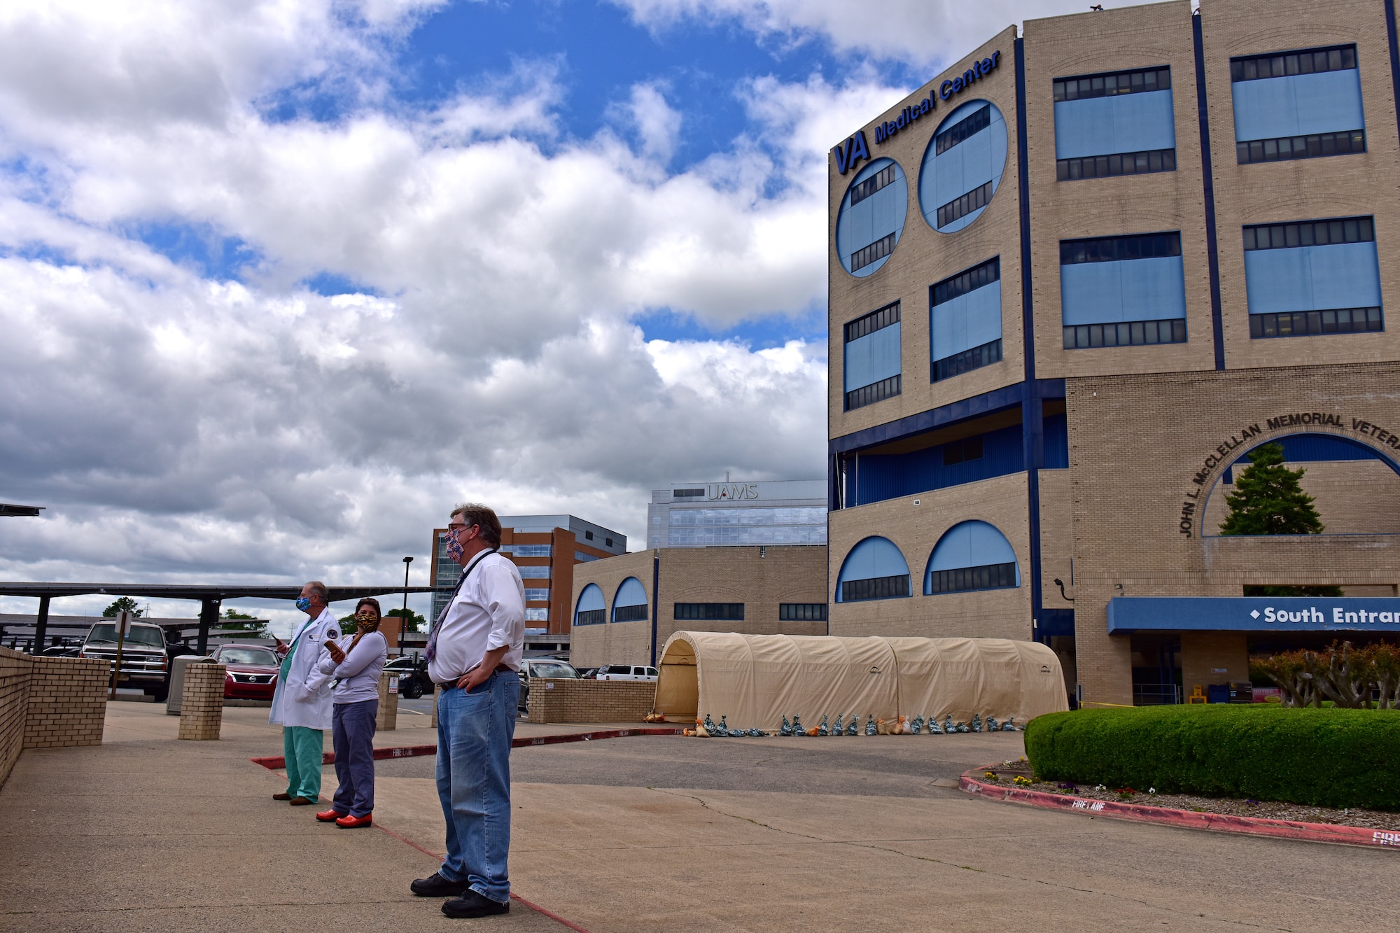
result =
[[[1044,780],[1400,810],[1400,710],[1084,709],[1026,724]]]

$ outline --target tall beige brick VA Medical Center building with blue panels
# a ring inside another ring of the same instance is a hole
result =
[[[1394,35],[1382,0],[1033,20],[832,151],[833,635],[1035,637],[1133,703],[1400,628]],[[1324,534],[1221,537],[1271,440]]]

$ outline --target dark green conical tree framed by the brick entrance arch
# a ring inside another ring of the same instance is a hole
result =
[[[1260,444],[1249,452],[1249,466],[1235,478],[1235,492],[1225,496],[1229,514],[1222,535],[1317,535],[1322,516],[1313,497],[1298,483],[1303,469],[1284,465],[1282,444]],[[1254,597],[1340,597],[1341,587],[1247,586]]]

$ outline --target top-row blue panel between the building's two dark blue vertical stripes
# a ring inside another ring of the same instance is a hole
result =
[[[1155,148],[1176,148],[1170,90],[1060,101],[1054,105],[1056,158]]]

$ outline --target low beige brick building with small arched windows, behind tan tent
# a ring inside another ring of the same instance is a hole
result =
[[[652,601],[652,551],[594,560],[574,567],[574,601],[596,583],[612,618],[613,598],[627,577],[636,577]],[[784,622],[783,602],[826,601],[826,548],[770,545],[767,548],[662,548],[661,607],[657,651],[673,632],[710,630],[745,635],[826,635],[826,622]],[[742,602],[743,619],[732,622],[676,621],[676,602]],[[580,625],[573,629],[570,660],[575,667],[650,664],[651,619]]]

